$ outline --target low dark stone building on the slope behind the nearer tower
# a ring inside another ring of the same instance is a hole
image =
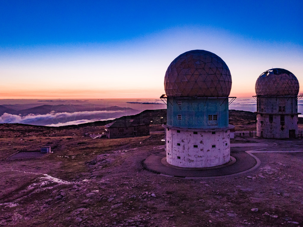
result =
[[[117,120],[105,125],[107,139],[149,135],[149,123],[138,120]]]

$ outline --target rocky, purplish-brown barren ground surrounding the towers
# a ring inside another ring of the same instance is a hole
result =
[[[0,226],[303,225],[303,153],[287,152],[303,151],[302,140],[245,137],[264,143],[257,147],[262,151],[286,152],[256,153],[261,165],[237,176],[182,179],[142,165],[164,147],[160,125],[137,138],[86,134],[103,129],[1,124]],[[40,145],[52,146],[54,153],[12,158]],[[255,148],[235,147],[231,155],[249,149]]]

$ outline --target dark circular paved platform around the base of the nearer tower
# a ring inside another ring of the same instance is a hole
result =
[[[209,168],[182,168],[166,162],[166,152],[160,152],[145,159],[144,167],[152,172],[181,178],[223,177],[241,173],[253,168],[257,160],[246,152],[231,152],[231,161],[224,165]]]

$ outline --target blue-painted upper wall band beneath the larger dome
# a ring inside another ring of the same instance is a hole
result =
[[[217,121],[208,121],[208,115],[217,115]],[[228,98],[167,98],[167,125],[190,129],[228,127]]]

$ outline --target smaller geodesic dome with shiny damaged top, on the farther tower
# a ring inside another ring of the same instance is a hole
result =
[[[284,68],[263,72],[255,85],[256,95],[292,95],[299,93],[299,82],[294,74]]]

